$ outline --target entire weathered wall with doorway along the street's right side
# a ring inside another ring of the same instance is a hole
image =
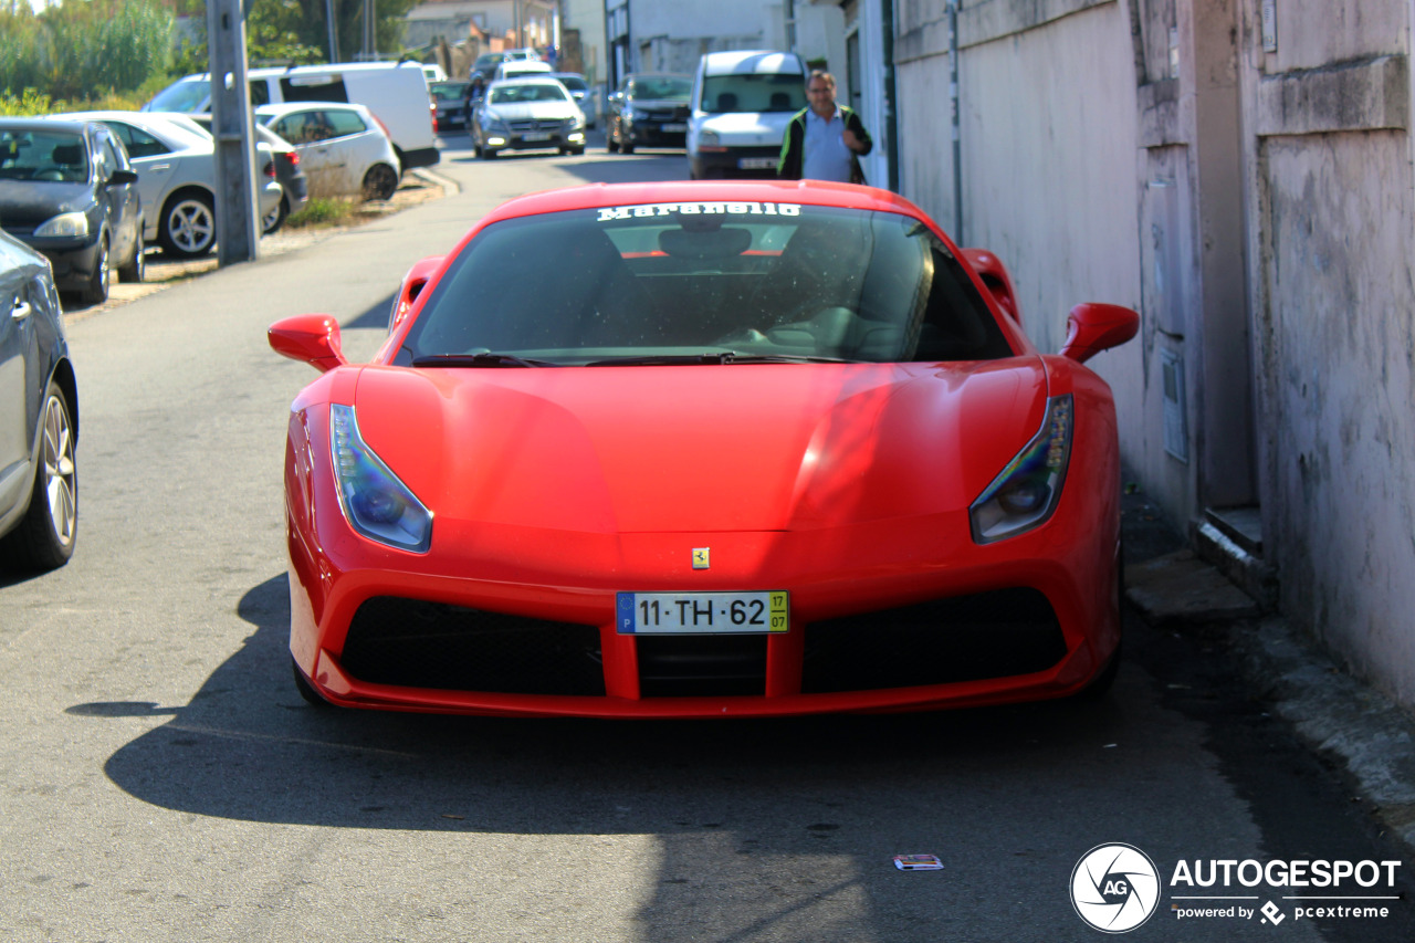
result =
[[[890,14],[903,195],[1006,261],[1043,350],[1139,310],[1092,364],[1140,486],[1415,707],[1415,3]]]

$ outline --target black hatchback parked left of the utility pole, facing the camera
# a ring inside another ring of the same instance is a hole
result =
[[[123,142],[98,122],[0,119],[0,228],[48,256],[88,304],[112,272],[142,282],[143,204]]]

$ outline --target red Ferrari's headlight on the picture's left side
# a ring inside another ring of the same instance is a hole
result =
[[[350,525],[371,541],[426,554],[433,513],[364,443],[354,406],[330,405],[330,452],[340,507]]]

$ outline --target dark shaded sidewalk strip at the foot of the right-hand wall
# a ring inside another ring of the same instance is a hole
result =
[[[1163,528],[1165,532],[1159,532]],[[1353,678],[1316,641],[1257,602],[1179,538],[1138,494],[1126,496],[1125,596],[1156,629],[1221,640],[1261,699],[1346,770],[1375,817],[1415,854],[1415,718]]]

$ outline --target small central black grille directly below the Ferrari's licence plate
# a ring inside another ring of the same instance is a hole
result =
[[[635,644],[641,697],[767,692],[767,636],[640,636]]]

